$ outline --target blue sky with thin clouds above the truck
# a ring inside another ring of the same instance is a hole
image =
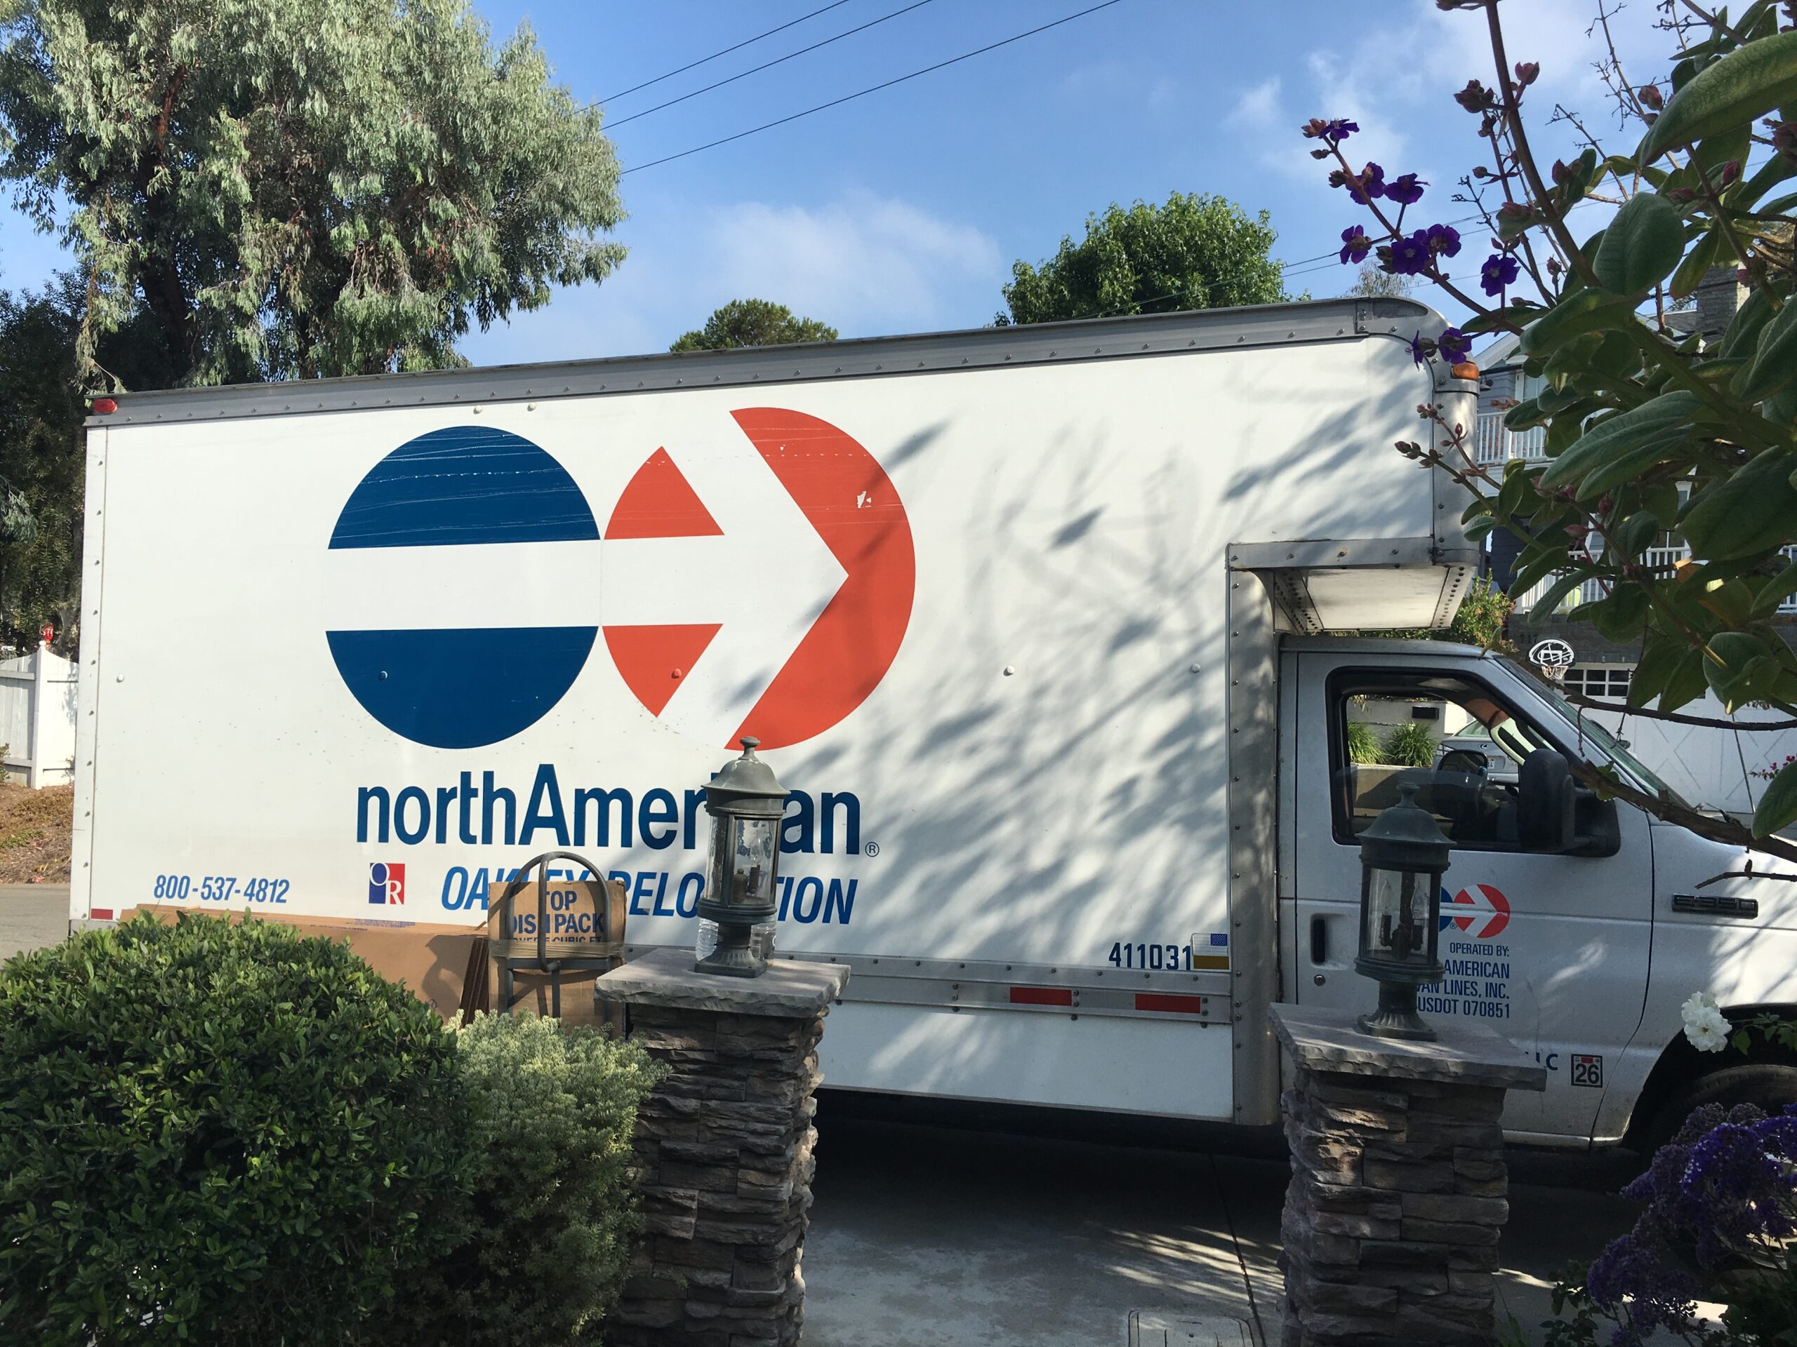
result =
[[[845,0],[651,88],[624,88],[807,14],[827,0],[476,0],[494,36],[528,22],[559,81],[604,99],[625,169],[825,102],[1073,14],[1093,0],[925,0],[771,70],[624,122],[665,99],[900,9]],[[1542,63],[1538,111],[1563,101],[1614,136],[1581,0],[1508,0],[1513,61]],[[1648,0],[1616,20],[1633,79],[1662,77]],[[1360,216],[1332,192],[1297,126],[1357,117],[1359,156],[1432,185],[1416,223],[1465,216],[1448,201],[1474,163],[1475,119],[1452,102],[1492,81],[1477,14],[1434,0],[1120,0],[999,50],[839,108],[624,178],[629,259],[602,286],[471,336],[480,365],[663,350],[730,298],[760,296],[843,336],[976,327],[1003,305],[1015,259],[1040,260],[1091,210],[1217,192],[1269,210],[1290,287],[1323,298],[1353,282],[1333,260]],[[624,124],[620,124],[624,122]],[[1540,117],[1536,119],[1536,126]],[[1563,128],[1536,135],[1551,162]],[[1601,131],[1599,131],[1601,135]],[[1624,144],[1626,140],[1626,144]],[[1628,151],[1633,136],[1617,138]],[[1359,162],[1359,158],[1357,158]],[[1601,223],[1592,210],[1590,228]],[[1457,259],[1477,271],[1484,241]],[[36,286],[66,259],[0,208],[0,284]],[[1421,293],[1457,316],[1447,296]]]

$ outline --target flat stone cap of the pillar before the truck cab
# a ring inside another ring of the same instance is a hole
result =
[[[1439,1038],[1375,1038],[1362,1033],[1355,1011],[1269,1006],[1274,1033],[1306,1070],[1385,1076],[1443,1085],[1495,1085],[1502,1090],[1545,1090],[1547,1072],[1502,1034],[1481,1026],[1430,1020]]]

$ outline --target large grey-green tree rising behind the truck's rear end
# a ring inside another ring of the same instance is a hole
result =
[[[79,259],[84,381],[119,332],[149,386],[449,365],[624,255],[598,111],[467,0],[0,13],[0,176]]]

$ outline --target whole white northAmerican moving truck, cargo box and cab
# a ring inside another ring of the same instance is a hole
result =
[[[74,923],[478,925],[571,850],[633,946],[690,945],[701,785],[753,735],[792,790],[776,950],[854,970],[830,1085],[1261,1124],[1267,1006],[1373,1002],[1357,835],[1411,779],[1454,844],[1421,1008],[1545,1067],[1513,1133],[1797,1099],[1678,1017],[1797,1002],[1790,869],[1572,792],[1558,756],[1659,783],[1531,670],[1377,636],[1448,625],[1479,566],[1465,490],[1393,451],[1421,402],[1474,424],[1411,356],[1441,325],[1335,300],[120,397]]]

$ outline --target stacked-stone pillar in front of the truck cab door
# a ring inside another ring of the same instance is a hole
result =
[[[1296,1067],[1279,1266],[1283,1347],[1371,1342],[1488,1347],[1497,1241],[1509,1218],[1499,1114],[1547,1072],[1490,1029],[1373,1038],[1351,1011],[1274,1006]]]

